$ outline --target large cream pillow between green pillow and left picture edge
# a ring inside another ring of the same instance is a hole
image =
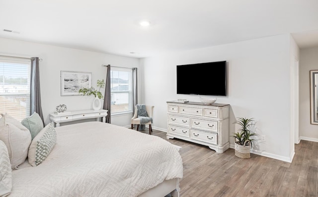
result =
[[[8,149],[11,168],[16,168],[23,163],[28,156],[31,143],[30,131],[19,121],[5,114],[0,119],[0,140]]]

